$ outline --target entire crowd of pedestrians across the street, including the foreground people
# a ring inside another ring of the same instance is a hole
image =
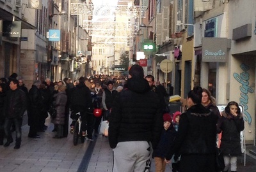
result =
[[[14,148],[20,148],[26,110],[28,137],[40,138],[38,133],[47,129],[45,119],[51,112],[54,139],[74,132],[76,113],[80,112],[82,136],[88,141],[99,135],[100,122],[108,120],[114,172],[149,171],[152,158],[157,172],[164,172],[169,162],[173,172],[218,171],[216,136],[221,140],[223,171],[236,171],[243,114],[234,101],[220,112],[207,89],[193,88],[186,99],[187,110],[170,114],[168,98],[172,95],[168,89],[155,82],[154,76],[144,77],[143,68],[136,64],[129,77],[94,75],[58,82],[46,78],[44,82],[35,80],[29,90],[24,80],[17,78],[13,73],[0,80],[0,145],[4,147],[13,143],[15,131]],[[102,110],[102,115],[93,115],[95,108]],[[222,133],[220,138],[218,133]]]

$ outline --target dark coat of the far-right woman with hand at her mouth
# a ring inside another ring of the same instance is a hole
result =
[[[222,117],[217,125],[218,133],[221,133],[220,150],[223,155],[239,156],[241,155],[240,133],[244,130],[243,114],[240,113],[237,117],[222,112]]]

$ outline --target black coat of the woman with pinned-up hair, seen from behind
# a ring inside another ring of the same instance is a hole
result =
[[[202,104],[191,106],[180,115],[179,130],[166,159],[170,160],[173,154],[215,154],[217,120]]]

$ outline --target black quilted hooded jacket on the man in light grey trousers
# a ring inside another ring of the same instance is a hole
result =
[[[159,97],[144,78],[129,78],[118,92],[109,115],[109,145],[122,141],[151,141],[156,148],[163,129]]]

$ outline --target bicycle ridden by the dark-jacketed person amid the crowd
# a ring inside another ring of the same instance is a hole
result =
[[[79,137],[81,138],[81,142],[84,143],[85,140],[85,136],[83,136],[83,132],[81,131],[81,124],[82,124],[82,120],[81,120],[81,114],[80,111],[76,113],[76,115],[78,115],[77,121],[74,125],[74,135],[73,135],[73,144],[76,146],[78,143],[78,139]]]

